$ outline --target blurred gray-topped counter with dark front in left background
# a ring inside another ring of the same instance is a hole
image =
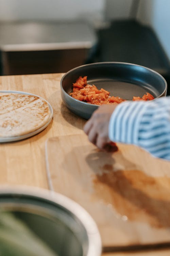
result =
[[[97,37],[83,22],[0,23],[3,75],[61,73],[88,61]]]

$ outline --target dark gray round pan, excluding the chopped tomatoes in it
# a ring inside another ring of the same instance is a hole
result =
[[[88,84],[110,91],[110,95],[132,100],[146,92],[155,98],[166,96],[167,82],[162,75],[149,68],[125,62],[98,62],[68,71],[61,80],[61,96],[64,104],[74,114],[89,119],[99,105],[72,98],[72,84],[79,76],[87,76]]]

